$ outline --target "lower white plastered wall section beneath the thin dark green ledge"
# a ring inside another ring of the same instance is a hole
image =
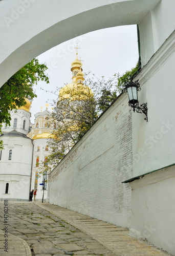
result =
[[[159,170],[130,183],[130,234],[175,255],[175,167]]]

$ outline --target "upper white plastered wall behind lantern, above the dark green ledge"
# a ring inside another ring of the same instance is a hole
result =
[[[133,115],[134,177],[175,163],[174,50],[175,32],[136,77],[139,101],[148,104],[148,122]]]

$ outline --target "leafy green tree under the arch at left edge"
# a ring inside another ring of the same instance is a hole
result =
[[[47,69],[46,65],[39,64],[38,59],[33,59],[0,88],[0,131],[3,122],[10,125],[12,109],[25,105],[25,98],[37,97],[33,92],[34,84],[39,80],[49,83],[49,78],[45,75]],[[2,141],[0,141],[0,149],[2,149]]]

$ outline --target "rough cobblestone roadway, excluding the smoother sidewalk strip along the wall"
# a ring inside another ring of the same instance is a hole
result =
[[[3,203],[0,204],[0,216],[3,220]],[[32,255],[116,255],[88,234],[32,202],[8,202],[7,224],[10,234],[14,234],[28,243]],[[1,221],[0,229],[3,228],[4,224]],[[8,246],[9,248],[13,247],[13,240]],[[0,255],[2,254],[0,253]],[[19,253],[14,255],[24,254],[20,253],[19,248]]]

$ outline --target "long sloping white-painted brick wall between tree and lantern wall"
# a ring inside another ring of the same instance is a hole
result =
[[[126,94],[50,174],[49,202],[129,227],[132,177],[132,114]]]

